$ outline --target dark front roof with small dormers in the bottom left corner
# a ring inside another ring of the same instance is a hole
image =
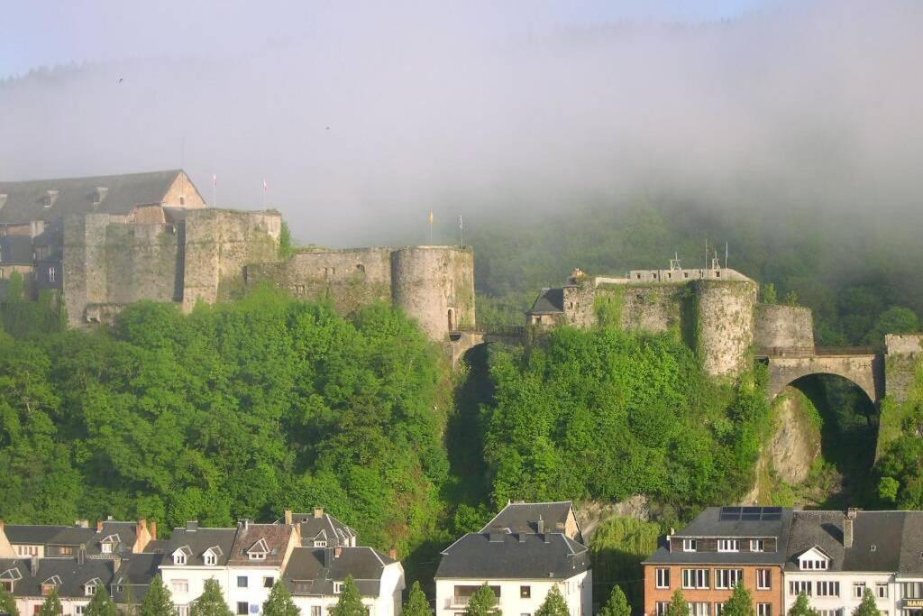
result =
[[[37,559],[38,570],[31,573],[30,559],[0,560],[0,574],[17,571],[21,575],[13,585],[16,597],[42,597],[42,584],[55,576],[61,580],[57,587],[61,597],[84,597],[84,585],[93,580],[109,584],[113,577],[114,561],[87,559],[79,564],[77,559]]]

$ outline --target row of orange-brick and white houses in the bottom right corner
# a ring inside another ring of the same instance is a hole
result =
[[[923,512],[711,507],[643,566],[647,616],[677,589],[691,616],[721,616],[738,583],[758,616],[783,616],[799,594],[848,616],[867,590],[882,616],[923,616]]]

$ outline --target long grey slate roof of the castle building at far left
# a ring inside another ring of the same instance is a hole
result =
[[[6,202],[0,208],[0,223],[28,223],[90,211],[127,213],[137,205],[161,203],[180,173],[179,169],[170,169],[140,174],[0,182],[0,195],[6,195]],[[100,187],[108,190],[102,202],[94,207],[93,198]],[[190,187],[195,190],[191,182]],[[44,203],[49,190],[57,190],[58,194],[54,204],[46,208]]]

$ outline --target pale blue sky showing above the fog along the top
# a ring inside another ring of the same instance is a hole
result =
[[[626,20],[709,21],[735,18],[765,1],[497,0],[485,3],[483,22],[476,27],[515,32]],[[325,4],[329,3],[0,0],[4,16],[0,20],[0,78],[71,62],[238,54],[246,46],[299,36],[303,25],[322,16]],[[427,9],[431,11],[432,6],[428,3]],[[362,2],[354,3],[354,12],[357,16],[363,12]],[[407,25],[413,27],[413,23]]]

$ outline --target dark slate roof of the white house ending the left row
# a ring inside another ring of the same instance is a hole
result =
[[[325,564],[325,553],[329,564]],[[332,595],[333,583],[352,575],[359,593],[378,596],[385,565],[393,561],[378,550],[366,547],[342,548],[334,556],[333,548],[295,548],[282,579],[293,595]]]

